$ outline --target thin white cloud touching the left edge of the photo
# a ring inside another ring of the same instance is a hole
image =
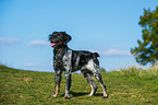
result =
[[[0,37],[0,44],[13,44],[13,43],[19,43],[20,39],[17,38],[4,38],[4,37]]]

